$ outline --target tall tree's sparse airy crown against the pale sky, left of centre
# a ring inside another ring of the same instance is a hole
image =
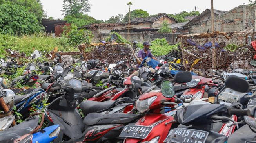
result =
[[[89,0],[63,0],[62,15],[72,15],[84,14],[90,12],[91,4]]]

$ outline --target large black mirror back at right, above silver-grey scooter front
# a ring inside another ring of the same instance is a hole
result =
[[[238,77],[236,75],[230,75],[225,81],[225,86],[227,88],[230,88],[242,93],[247,93],[250,88],[249,83],[245,79],[242,79],[241,77]]]

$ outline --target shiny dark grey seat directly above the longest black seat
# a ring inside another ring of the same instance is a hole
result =
[[[99,101],[83,101],[79,107],[86,116],[89,113],[93,112],[98,112],[98,111],[103,111],[104,109],[109,109],[115,101],[104,101],[104,102],[99,102]]]

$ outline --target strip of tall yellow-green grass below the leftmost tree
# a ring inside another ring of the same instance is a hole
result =
[[[46,33],[36,33],[23,36],[10,36],[0,34],[0,57],[4,57],[5,49],[11,49],[25,54],[34,50],[49,52],[58,47],[60,51],[77,51],[76,47],[69,45],[67,38],[53,38]],[[34,49],[34,50],[33,50]]]

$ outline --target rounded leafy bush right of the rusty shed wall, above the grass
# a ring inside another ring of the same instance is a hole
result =
[[[70,45],[77,46],[81,43],[89,44],[93,38],[93,34],[87,29],[78,29],[77,26],[71,24],[70,26],[65,26],[62,36],[68,38]]]

